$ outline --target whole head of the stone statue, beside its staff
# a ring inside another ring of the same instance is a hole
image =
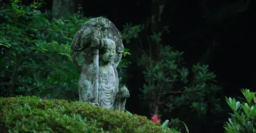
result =
[[[116,44],[113,40],[108,38],[103,38],[104,47],[99,50],[100,61],[105,64],[110,63],[114,60],[116,55]]]

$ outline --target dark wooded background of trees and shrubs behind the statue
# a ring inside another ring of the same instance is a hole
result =
[[[0,3],[2,97],[77,100],[70,44],[77,28],[98,16],[122,31],[118,72],[131,92],[126,108],[132,113],[158,114],[180,131],[184,121],[191,132],[223,132],[233,110],[225,96],[245,95],[241,88],[255,92],[255,1]]]

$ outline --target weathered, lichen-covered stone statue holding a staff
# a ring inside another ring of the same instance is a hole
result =
[[[93,18],[82,24],[71,44],[71,57],[81,72],[79,99],[83,102],[124,111],[129,90],[118,88],[117,65],[124,46],[121,34],[108,19]]]

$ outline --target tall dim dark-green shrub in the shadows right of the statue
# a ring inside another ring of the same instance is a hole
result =
[[[209,66],[196,64],[188,69],[183,63],[183,52],[161,44],[161,33],[154,33],[150,38],[149,51],[144,51],[138,60],[145,68],[146,84],[140,96],[144,105],[154,114],[173,118],[171,113],[175,113],[186,121],[196,115],[201,121],[207,112],[222,111],[220,99],[216,98],[221,88],[215,84],[216,76]],[[170,126],[179,127],[179,119],[171,119]]]

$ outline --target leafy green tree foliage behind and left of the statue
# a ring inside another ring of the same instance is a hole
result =
[[[37,2],[26,6],[17,0],[1,6],[0,96],[77,99],[79,73],[71,61],[70,44],[89,18],[74,14],[65,20],[47,20],[47,13],[38,10],[41,6]],[[129,54],[125,49],[124,56]],[[123,75],[130,63],[121,61]]]

